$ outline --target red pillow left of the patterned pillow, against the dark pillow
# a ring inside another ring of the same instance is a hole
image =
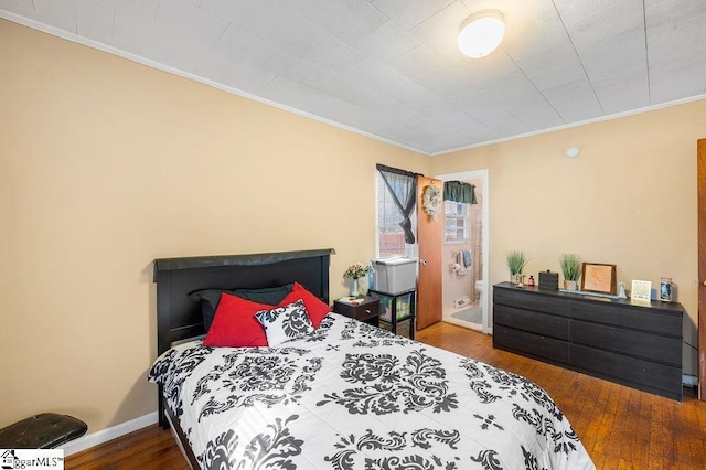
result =
[[[275,306],[257,303],[239,297],[221,295],[221,301],[203,340],[206,346],[266,346],[265,329],[255,318],[255,312],[271,310]]]

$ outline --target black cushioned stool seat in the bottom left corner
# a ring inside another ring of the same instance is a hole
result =
[[[88,426],[73,416],[42,413],[0,429],[0,449],[54,449],[86,430]]]

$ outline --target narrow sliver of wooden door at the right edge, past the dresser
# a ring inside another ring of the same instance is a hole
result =
[[[706,139],[696,145],[698,178],[698,397],[706,400]]]

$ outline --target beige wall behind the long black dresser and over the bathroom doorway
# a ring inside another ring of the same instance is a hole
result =
[[[706,100],[449,153],[432,174],[489,169],[490,282],[509,280],[505,255],[523,250],[525,274],[560,271],[558,257],[617,265],[619,281],[678,285],[696,344],[696,140]],[[565,156],[577,146],[581,154]],[[696,374],[685,346],[685,371]]]

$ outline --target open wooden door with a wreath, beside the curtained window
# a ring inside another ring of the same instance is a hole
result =
[[[443,183],[417,177],[417,242],[419,246],[419,278],[417,280],[417,330],[441,321],[441,258],[443,243],[443,201],[434,220],[424,210],[424,195],[434,184],[443,194]]]

